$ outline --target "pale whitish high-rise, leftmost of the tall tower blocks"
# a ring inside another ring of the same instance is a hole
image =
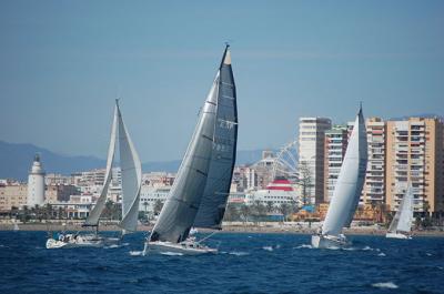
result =
[[[332,122],[327,118],[301,118],[299,125],[299,176],[304,202],[324,201],[325,131]]]

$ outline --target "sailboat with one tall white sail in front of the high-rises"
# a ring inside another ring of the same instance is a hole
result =
[[[312,246],[344,247],[350,242],[342,234],[350,226],[364,185],[367,164],[367,141],[362,107],[356,115],[333,197],[321,231],[312,235]]]

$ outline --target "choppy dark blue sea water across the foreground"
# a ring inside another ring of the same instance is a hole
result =
[[[221,233],[216,255],[141,256],[143,236],[46,250],[46,232],[0,232],[0,293],[444,293],[443,237],[315,250],[309,235]]]

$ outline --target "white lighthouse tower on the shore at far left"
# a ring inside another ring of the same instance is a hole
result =
[[[28,207],[36,204],[41,206],[44,203],[44,171],[40,162],[40,155],[36,154],[31,171],[28,178]]]

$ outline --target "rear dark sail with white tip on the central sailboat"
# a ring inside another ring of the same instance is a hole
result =
[[[194,220],[195,227],[221,229],[235,163],[238,105],[228,49],[219,69],[213,151],[202,202]]]

